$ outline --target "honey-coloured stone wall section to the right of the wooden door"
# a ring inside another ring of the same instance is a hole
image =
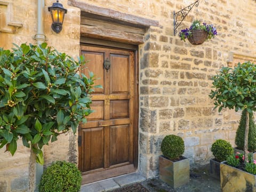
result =
[[[185,156],[190,163],[204,164],[212,157],[210,147],[216,139],[234,146],[241,113],[214,109],[208,94],[211,77],[227,66],[230,52],[254,55],[254,1],[200,1],[178,28],[200,19],[212,23],[218,36],[203,45],[193,46],[173,35],[173,11],[194,1],[84,1],[120,12],[158,20],[145,43],[139,46],[140,121],[139,171],[146,177],[158,174],[160,145],[166,134],[185,140]],[[246,2],[246,3],[245,3]]]

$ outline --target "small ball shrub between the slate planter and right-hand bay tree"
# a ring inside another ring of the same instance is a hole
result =
[[[223,139],[216,140],[212,144],[211,151],[218,162],[226,161],[229,155],[234,154],[234,149],[231,144]]]

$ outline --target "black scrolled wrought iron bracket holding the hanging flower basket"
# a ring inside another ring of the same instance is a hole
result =
[[[182,21],[187,17],[188,13],[191,11],[191,9],[194,6],[198,6],[199,5],[199,0],[197,0],[195,3],[192,3],[190,5],[188,5],[187,7],[185,7],[184,9],[178,11],[177,13],[175,13],[175,11],[173,11],[173,24],[174,24],[174,36],[175,34],[178,33],[177,28],[180,26],[180,24],[182,23]]]

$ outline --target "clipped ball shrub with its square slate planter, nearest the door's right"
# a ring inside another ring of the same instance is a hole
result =
[[[161,143],[159,179],[177,188],[189,182],[189,159],[183,157],[185,144],[178,135],[166,135]]]

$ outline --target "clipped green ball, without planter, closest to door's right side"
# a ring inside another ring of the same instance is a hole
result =
[[[161,143],[164,157],[178,159],[185,151],[184,141],[177,135],[166,135]]]

